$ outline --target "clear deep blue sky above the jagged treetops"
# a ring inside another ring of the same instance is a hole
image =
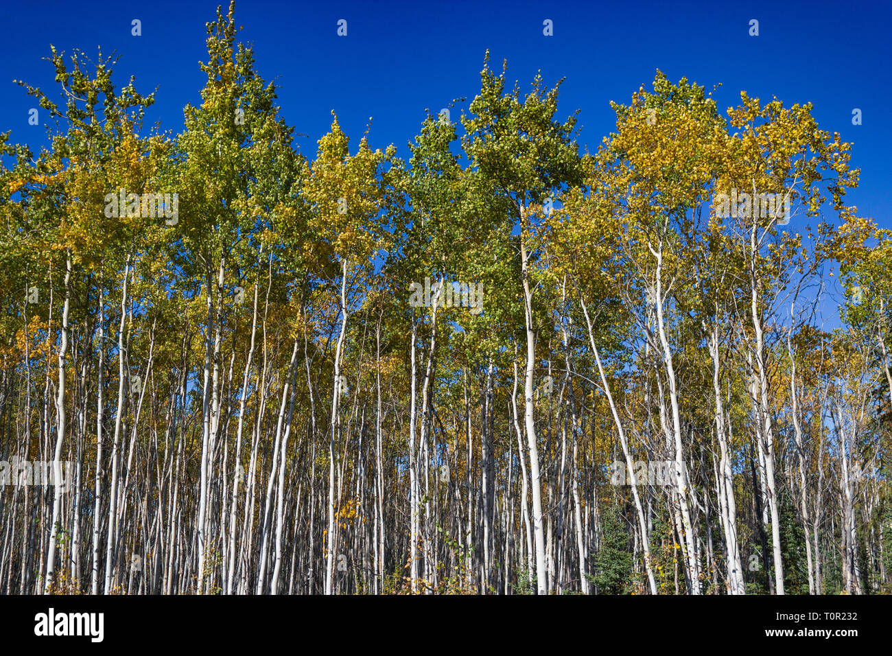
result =
[[[34,99],[12,79],[50,90],[53,71],[42,57],[49,45],[70,52],[120,54],[122,86],[132,74],[144,93],[158,88],[150,122],[182,129],[183,106],[197,103],[203,84],[204,23],[216,2],[23,2],[0,9],[0,130],[34,148],[45,129],[29,126]],[[224,6],[224,10],[226,6]],[[275,79],[285,119],[304,154],[338,113],[355,145],[374,117],[375,147],[394,143],[402,155],[417,134],[425,108],[479,90],[483,53],[494,67],[508,59],[510,79],[528,87],[541,69],[546,83],[566,77],[561,113],[580,113],[582,144],[592,147],[614,127],[608,102],[629,102],[658,69],[711,89],[722,83],[719,107],[737,104],[739,91],[785,104],[814,103],[823,129],[854,143],[861,186],[849,195],[861,214],[892,228],[889,37],[886,2],[249,2],[236,4],[265,79]],[[133,19],[142,36],[130,34]],[[336,22],[348,21],[348,36]],[[554,36],[542,34],[542,21]],[[749,21],[759,21],[750,37]],[[466,104],[467,106],[467,104]],[[863,124],[852,125],[852,110]],[[41,112],[41,122],[45,112]],[[453,118],[458,112],[453,111]],[[795,221],[796,219],[794,219]],[[802,220],[800,218],[800,220]],[[791,228],[796,226],[791,225]]]

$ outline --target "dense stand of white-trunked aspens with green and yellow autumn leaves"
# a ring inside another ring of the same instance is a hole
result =
[[[207,34],[178,134],[114,57],[19,82],[0,592],[892,592],[892,233],[810,104],[657,71],[589,152],[487,53],[307,156]]]

